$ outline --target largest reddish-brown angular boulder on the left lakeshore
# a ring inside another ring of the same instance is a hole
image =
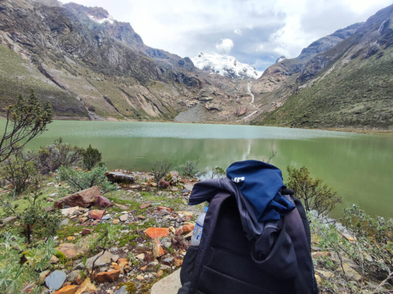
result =
[[[99,196],[101,196],[101,191],[97,186],[94,186],[55,201],[53,207],[59,209],[63,208],[65,205],[70,207],[90,207],[96,202]]]

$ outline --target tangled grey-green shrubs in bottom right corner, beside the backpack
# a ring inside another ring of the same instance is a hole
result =
[[[314,260],[331,272],[319,287],[326,293],[388,293],[393,281],[393,219],[372,218],[358,206],[344,210],[345,228],[322,223],[309,214],[311,232],[318,236],[317,246],[329,251],[330,258]],[[358,273],[354,278],[353,271]],[[386,288],[387,287],[387,288]]]

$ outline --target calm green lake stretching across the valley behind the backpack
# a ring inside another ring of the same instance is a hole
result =
[[[2,122],[4,125],[4,123]],[[200,170],[234,161],[269,158],[282,170],[306,166],[338,191],[344,204],[357,203],[371,215],[393,217],[393,135],[289,128],[176,124],[165,122],[54,121],[29,148],[62,137],[72,145],[98,148],[108,168],[148,171],[167,160],[173,168],[198,160]]]

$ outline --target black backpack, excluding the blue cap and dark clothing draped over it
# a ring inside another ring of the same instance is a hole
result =
[[[293,191],[283,189],[281,194],[293,195]],[[279,232],[270,235],[275,240],[266,240],[273,244],[272,250],[260,262],[252,254],[254,244],[245,236],[235,197],[226,191],[216,193],[206,213],[200,246],[190,246],[184,257],[178,294],[317,294],[309,222],[303,205],[292,195],[296,208],[282,216]],[[296,268],[281,266],[286,248],[274,248],[280,238],[291,239]]]

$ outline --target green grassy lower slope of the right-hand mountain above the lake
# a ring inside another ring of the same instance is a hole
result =
[[[265,118],[267,126],[306,128],[393,128],[393,48],[368,59],[358,57],[298,90]],[[341,60],[338,61],[341,63]],[[320,76],[325,74],[321,72]]]

